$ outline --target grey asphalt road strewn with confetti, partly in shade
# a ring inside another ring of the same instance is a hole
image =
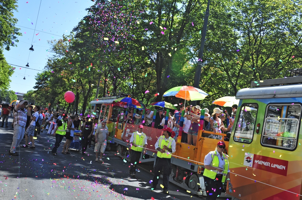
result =
[[[46,133],[41,133],[35,140],[35,149],[17,147],[20,156],[11,156],[8,154],[13,136],[11,122],[12,118],[9,118],[9,128],[0,128],[1,200],[205,199],[191,196],[172,184],[169,184],[169,195],[151,191],[149,181],[153,175],[139,170],[136,178],[130,178],[130,163],[123,162],[113,151],[105,152],[104,163],[94,161],[94,146],[84,156],[76,150],[65,155],[61,153],[64,138],[58,155],[54,156],[51,150],[55,137]],[[24,143],[25,139],[21,144]]]

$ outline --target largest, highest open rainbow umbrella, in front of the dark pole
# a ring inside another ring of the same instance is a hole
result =
[[[194,88],[192,86],[177,86],[166,91],[163,96],[175,96],[178,98],[182,98],[185,100],[186,104],[186,100],[203,100],[204,98],[206,98],[207,95],[208,94],[206,92],[202,91],[201,89]]]

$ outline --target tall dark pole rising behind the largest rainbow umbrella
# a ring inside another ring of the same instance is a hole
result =
[[[204,21],[203,21],[203,30],[202,30],[201,45],[200,45],[199,56],[198,56],[198,64],[196,67],[194,84],[193,84],[194,88],[199,88],[199,82],[200,82],[200,76],[201,76],[201,64],[202,64],[202,58],[203,58],[203,48],[204,48],[204,43],[206,40],[206,27],[208,25],[209,12],[210,12],[209,7],[210,7],[210,0],[208,0],[208,5],[206,7],[206,13],[204,16]],[[196,101],[192,101],[191,104],[193,106],[196,105]]]

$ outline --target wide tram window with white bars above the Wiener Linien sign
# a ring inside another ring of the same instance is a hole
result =
[[[268,105],[261,143],[294,149],[297,143],[301,105]]]

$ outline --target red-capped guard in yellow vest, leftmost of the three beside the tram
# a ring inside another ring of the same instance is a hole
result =
[[[135,177],[136,173],[136,164],[139,162],[139,158],[142,154],[146,154],[146,147],[147,147],[147,136],[145,133],[143,133],[143,125],[139,125],[136,132],[132,133],[132,136],[130,138],[130,145],[131,145],[131,167],[129,174],[132,175],[132,177]]]

